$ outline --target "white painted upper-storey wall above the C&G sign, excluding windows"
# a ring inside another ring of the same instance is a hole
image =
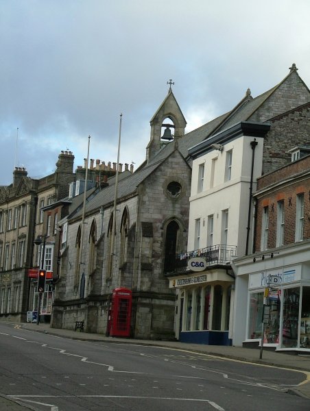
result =
[[[250,193],[253,137],[239,136],[224,145],[221,153],[213,151],[193,161],[191,182],[188,251],[195,249],[195,219],[201,219],[200,248],[206,247],[207,217],[214,215],[213,245],[221,244],[222,211],[228,210],[228,245],[237,245],[237,254],[242,256],[246,249],[246,227]],[[254,157],[254,183],[261,175],[263,158],[263,138],[257,138],[258,145]],[[233,150],[231,179],[225,182],[226,153]],[[211,186],[212,160],[215,160],[214,184]],[[204,162],[204,190],[198,193],[198,169]],[[253,186],[255,190],[256,184]],[[250,219],[252,224],[252,219]],[[250,232],[250,240],[252,239]],[[250,249],[250,248],[249,248]]]

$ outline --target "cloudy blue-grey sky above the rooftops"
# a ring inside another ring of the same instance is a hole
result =
[[[56,169],[69,150],[145,160],[172,89],[186,132],[289,73],[310,87],[309,0],[0,0],[0,186],[15,166]]]

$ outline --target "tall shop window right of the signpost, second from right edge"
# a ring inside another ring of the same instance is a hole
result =
[[[286,288],[283,295],[282,345],[297,347],[300,288]]]

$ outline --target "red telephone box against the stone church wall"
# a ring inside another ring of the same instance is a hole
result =
[[[129,337],[132,306],[132,291],[115,288],[112,292],[110,336]]]

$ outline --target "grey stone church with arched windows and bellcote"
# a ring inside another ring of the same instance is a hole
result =
[[[84,216],[82,210],[68,216],[52,327],[84,321],[86,331],[106,333],[112,291],[128,288],[131,336],[174,338],[175,294],[164,273],[187,245],[191,168],[178,149],[185,125],[169,89],[151,120],[145,163],[119,178],[116,215],[115,180],[108,180],[87,201]],[[165,128],[173,129],[169,140],[161,138]]]

